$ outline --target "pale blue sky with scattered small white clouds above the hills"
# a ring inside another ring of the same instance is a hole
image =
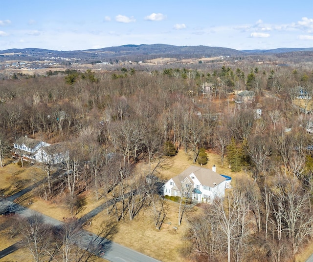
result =
[[[313,47],[313,0],[0,0],[0,50]]]

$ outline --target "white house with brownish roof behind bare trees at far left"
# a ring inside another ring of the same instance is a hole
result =
[[[27,136],[20,137],[13,145],[13,156],[26,161],[57,164],[68,157],[68,152],[64,152],[61,144],[51,145]]]

